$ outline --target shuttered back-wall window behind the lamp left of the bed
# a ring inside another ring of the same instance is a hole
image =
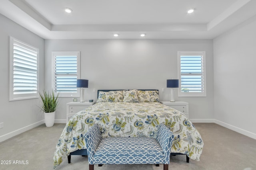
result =
[[[76,88],[76,80],[80,77],[80,52],[52,52],[52,58],[54,92],[60,92],[60,97],[79,97],[80,91]]]

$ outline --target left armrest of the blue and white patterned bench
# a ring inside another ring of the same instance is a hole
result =
[[[101,141],[100,127],[98,124],[94,124],[84,135],[86,142],[86,149],[88,155],[89,164],[93,164],[94,152],[97,149]]]

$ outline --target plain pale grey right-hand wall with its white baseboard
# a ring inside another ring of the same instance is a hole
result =
[[[214,117],[256,139],[256,16],[214,39]]]

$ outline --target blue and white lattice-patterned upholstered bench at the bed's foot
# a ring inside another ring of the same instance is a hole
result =
[[[89,170],[94,164],[164,164],[168,170],[173,133],[158,125],[156,139],[150,137],[102,138],[100,127],[94,124],[84,136]]]

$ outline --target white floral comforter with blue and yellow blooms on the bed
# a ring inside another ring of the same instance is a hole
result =
[[[164,123],[173,133],[171,152],[198,160],[203,141],[191,121],[180,111],[158,102],[100,102],[76,113],[64,128],[54,153],[54,168],[70,152],[86,149],[84,134],[98,123],[102,137],[156,137],[157,125]]]

